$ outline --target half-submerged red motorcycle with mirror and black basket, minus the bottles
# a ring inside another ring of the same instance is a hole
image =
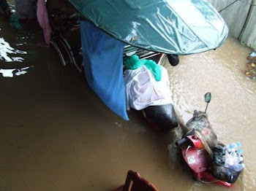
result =
[[[205,101],[207,110],[211,101],[211,93],[206,93]],[[204,113],[206,114],[206,111]],[[204,136],[208,136],[210,131],[211,129],[206,127],[202,130],[202,133]],[[211,149],[212,153],[209,153],[205,146],[195,133],[195,128],[189,130],[182,139],[176,141],[177,152],[181,155],[182,161],[192,171],[195,180],[232,187],[242,168],[232,169],[225,165],[228,154],[227,151],[225,152],[224,144],[217,142],[214,148]]]

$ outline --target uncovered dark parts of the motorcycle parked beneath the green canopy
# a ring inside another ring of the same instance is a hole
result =
[[[51,12],[52,39],[50,45],[54,47],[64,66],[73,64],[81,74],[84,74],[83,52],[80,42],[76,39],[80,36],[80,19],[77,14],[59,10]],[[143,50],[127,44],[124,47],[123,58],[126,59],[131,55],[138,55],[140,59],[153,60],[161,66],[165,66],[166,63],[177,66],[179,63],[178,55]],[[173,104],[148,106],[142,110],[142,113],[146,122],[157,132],[165,132],[178,126]]]

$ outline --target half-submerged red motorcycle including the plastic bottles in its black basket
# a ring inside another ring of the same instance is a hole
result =
[[[206,93],[205,101],[208,106],[211,93]],[[227,146],[217,141],[217,136],[212,136],[211,126],[204,123],[202,128],[202,123],[204,122],[195,122],[194,128],[185,133],[182,139],[176,141],[177,152],[192,171],[195,180],[231,187],[244,168],[243,157],[238,150],[230,151]],[[201,128],[200,133],[198,133],[198,126]],[[208,141],[204,143],[202,141],[209,136],[211,136],[210,139],[216,139],[210,148],[207,145]]]

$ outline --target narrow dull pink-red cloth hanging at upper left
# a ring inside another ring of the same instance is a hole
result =
[[[50,24],[48,20],[48,12],[45,5],[45,0],[37,1],[37,20],[39,25],[44,30],[45,43],[50,44]]]

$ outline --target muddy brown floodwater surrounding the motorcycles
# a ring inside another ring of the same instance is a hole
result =
[[[129,169],[161,191],[230,190],[195,182],[170,160],[172,132],[154,133],[137,112],[129,122],[117,117],[32,28],[15,31],[0,17],[0,190],[111,190]],[[233,190],[256,190],[256,80],[241,72],[249,52],[229,37],[215,51],[166,66],[184,121],[205,109],[211,92],[208,116],[219,141],[241,142],[246,168]]]

